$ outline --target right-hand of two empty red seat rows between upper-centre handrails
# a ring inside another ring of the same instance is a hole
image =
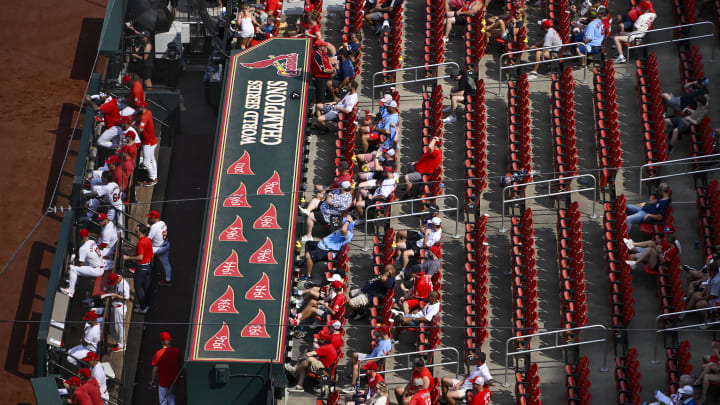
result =
[[[577,138],[575,129],[575,79],[568,66],[562,74],[552,74],[550,82],[553,162],[555,177],[564,178],[577,174]],[[560,182],[560,185],[564,185]]]

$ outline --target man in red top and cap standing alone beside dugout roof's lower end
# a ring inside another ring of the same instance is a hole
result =
[[[150,385],[158,387],[160,405],[175,405],[175,383],[180,376],[182,354],[180,349],[172,346],[169,332],[160,333],[162,347],[155,352],[152,360],[152,376]]]

